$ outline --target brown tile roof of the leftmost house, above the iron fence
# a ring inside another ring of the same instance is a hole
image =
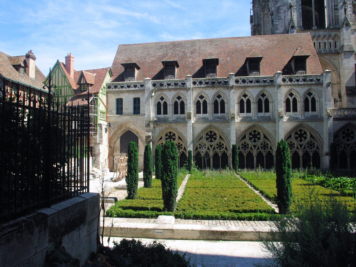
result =
[[[22,58],[23,60],[25,56],[10,57],[5,53],[0,52],[0,75],[7,79],[44,90],[42,87],[46,77],[37,66],[35,66],[35,79],[28,77],[26,73],[24,75],[20,74],[14,67],[12,67],[11,63],[18,62],[19,58]]]

